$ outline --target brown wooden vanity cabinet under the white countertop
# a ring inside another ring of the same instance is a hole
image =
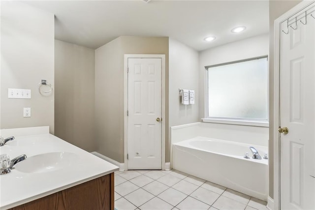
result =
[[[114,173],[10,210],[114,210]]]

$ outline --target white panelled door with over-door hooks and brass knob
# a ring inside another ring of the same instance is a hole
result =
[[[280,48],[280,126],[288,128],[280,134],[282,210],[315,210],[315,19],[305,10],[297,25],[295,16],[289,20],[296,30],[282,24],[288,29]]]

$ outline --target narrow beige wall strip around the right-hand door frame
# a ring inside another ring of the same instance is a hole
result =
[[[274,21],[300,0],[269,1],[269,196],[274,198]]]

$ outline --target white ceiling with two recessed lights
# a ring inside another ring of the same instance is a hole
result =
[[[55,14],[55,37],[96,49],[122,36],[169,36],[202,51],[269,32],[268,0],[24,1]],[[246,26],[240,34],[231,33]],[[216,36],[205,42],[206,36]]]

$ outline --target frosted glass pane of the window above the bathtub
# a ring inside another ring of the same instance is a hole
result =
[[[268,120],[267,57],[208,67],[208,117]]]

